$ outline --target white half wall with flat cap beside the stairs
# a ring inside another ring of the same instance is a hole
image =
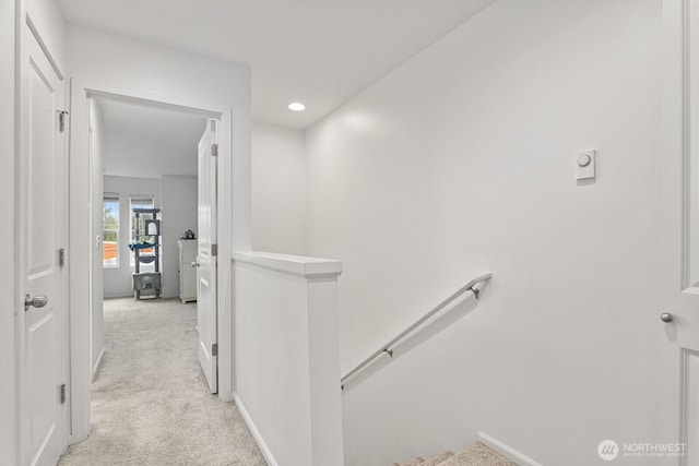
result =
[[[342,465],[342,263],[264,252],[234,259],[236,403],[246,422],[271,466]]]

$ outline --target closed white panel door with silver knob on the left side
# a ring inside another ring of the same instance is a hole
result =
[[[23,464],[55,465],[64,449],[66,282],[63,82],[26,25],[22,32],[19,182]],[[64,393],[64,392],[63,392]],[[61,399],[63,398],[63,399]]]

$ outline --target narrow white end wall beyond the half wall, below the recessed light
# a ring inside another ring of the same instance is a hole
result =
[[[252,247],[306,252],[306,142],[301,131],[252,124]]]

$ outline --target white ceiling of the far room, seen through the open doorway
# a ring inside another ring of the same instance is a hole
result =
[[[105,175],[197,175],[204,117],[115,100],[97,100],[97,107]]]

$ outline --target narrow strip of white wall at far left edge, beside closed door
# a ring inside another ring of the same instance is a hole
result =
[[[14,0],[0,0],[0,217],[5,219],[0,229],[2,244],[14,244]],[[15,283],[14,248],[0,248],[0,452],[8,464],[16,464],[17,445],[17,377],[15,372],[15,319],[20,299]]]

